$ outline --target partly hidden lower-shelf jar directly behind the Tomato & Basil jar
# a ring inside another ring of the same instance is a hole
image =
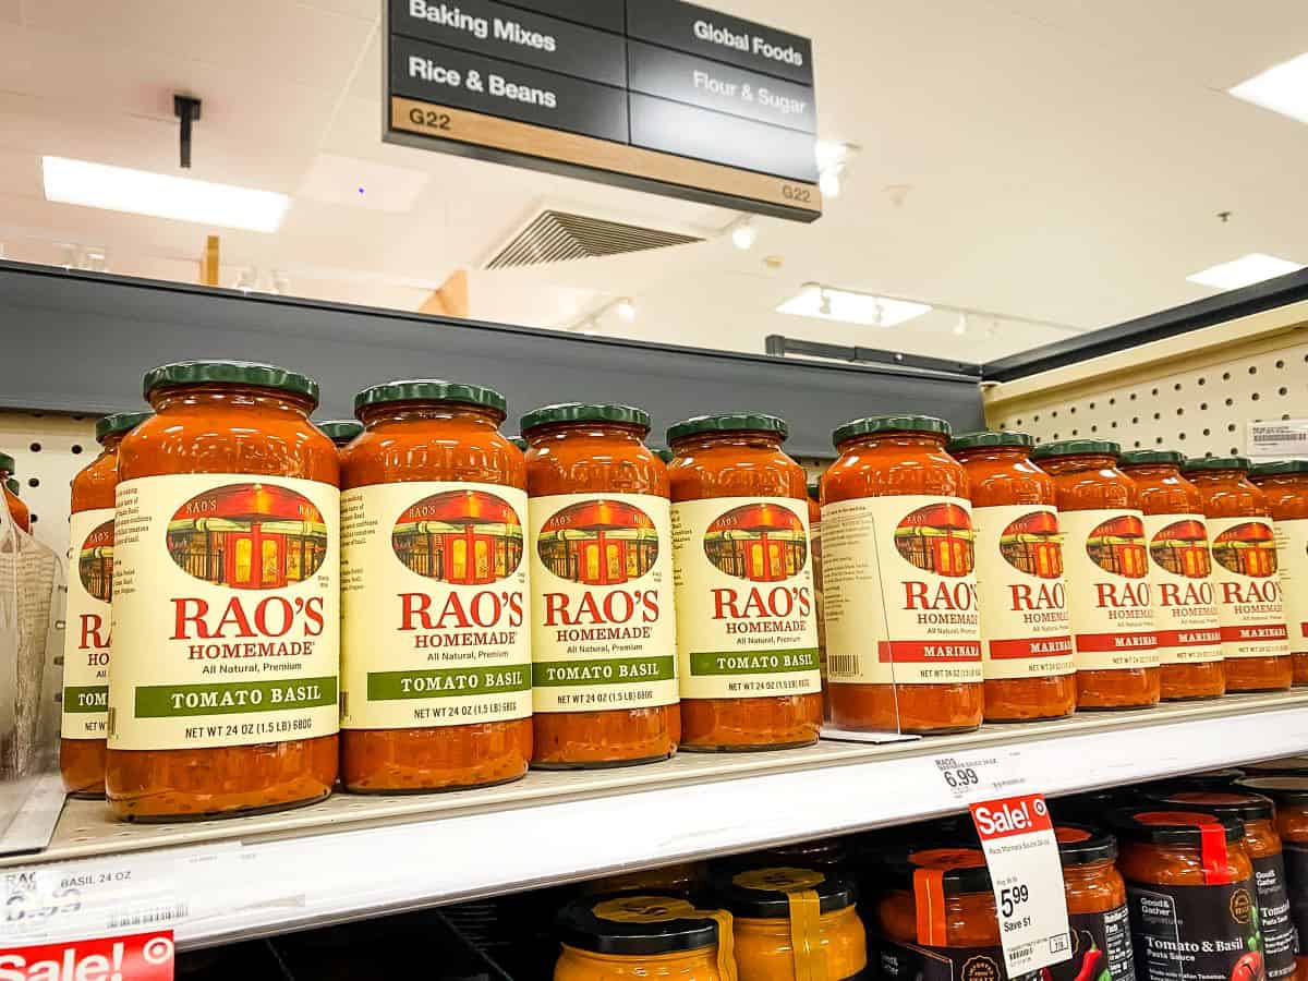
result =
[[[1184,786],[1184,778],[1180,786]],[[1253,883],[1258,893],[1264,967],[1273,981],[1294,976],[1298,944],[1271,799],[1240,787],[1196,787],[1159,793],[1158,800],[1167,807],[1239,818],[1244,823],[1244,849],[1253,865]]]

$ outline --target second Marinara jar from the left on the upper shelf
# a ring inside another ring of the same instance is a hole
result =
[[[968,475],[976,528],[985,721],[1062,718],[1076,709],[1076,666],[1054,481],[1025,433],[965,433],[950,454]]]

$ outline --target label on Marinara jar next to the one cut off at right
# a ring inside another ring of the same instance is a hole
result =
[[[1223,655],[1287,657],[1290,632],[1271,519],[1209,518],[1209,539]]]

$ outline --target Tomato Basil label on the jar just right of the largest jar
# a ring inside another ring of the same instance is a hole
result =
[[[497,484],[341,493],[341,729],[531,715],[526,515]]]

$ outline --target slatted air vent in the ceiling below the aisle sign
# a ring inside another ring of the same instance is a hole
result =
[[[604,255],[644,252],[674,245],[702,242],[698,235],[641,228],[620,221],[573,215],[565,211],[543,211],[501,249],[488,269],[517,266],[540,266],[572,259],[598,259]]]

